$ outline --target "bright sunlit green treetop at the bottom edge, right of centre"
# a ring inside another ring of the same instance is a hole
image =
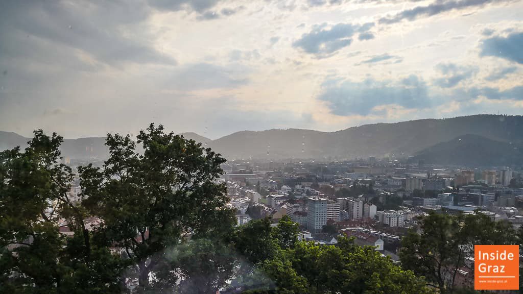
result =
[[[355,245],[345,237],[339,238],[337,246],[300,242],[289,259],[311,293],[429,292],[423,278],[394,265],[374,248]]]

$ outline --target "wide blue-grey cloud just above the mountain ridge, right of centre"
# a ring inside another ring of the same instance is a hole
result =
[[[368,78],[362,82],[328,79],[317,97],[326,101],[331,112],[339,116],[369,115],[381,105],[397,105],[407,109],[430,106],[426,83],[416,75],[400,81],[377,81]]]

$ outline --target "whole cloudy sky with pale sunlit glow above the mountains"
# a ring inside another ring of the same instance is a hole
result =
[[[523,114],[523,1],[6,1],[0,130],[216,139]]]

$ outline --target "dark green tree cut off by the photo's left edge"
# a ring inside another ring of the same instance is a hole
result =
[[[73,172],[59,163],[61,143],[38,130],[24,152],[0,153],[0,292],[121,291],[124,264],[70,199]],[[65,226],[72,237],[59,232]]]

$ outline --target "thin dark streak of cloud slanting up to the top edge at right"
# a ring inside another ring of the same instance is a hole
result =
[[[412,21],[422,16],[434,16],[451,10],[461,10],[471,7],[482,7],[487,4],[505,3],[513,0],[436,0],[427,6],[417,6],[403,10],[393,16],[382,17],[380,24],[394,24],[404,19]]]

